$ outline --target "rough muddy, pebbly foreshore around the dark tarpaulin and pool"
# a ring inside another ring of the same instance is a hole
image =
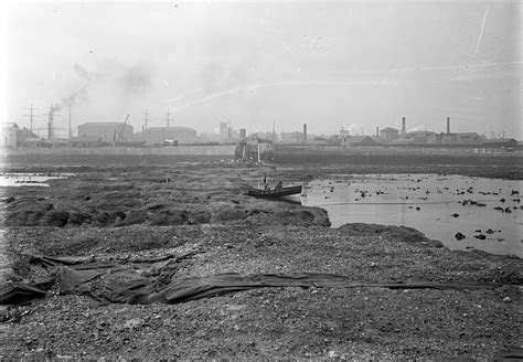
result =
[[[519,169],[185,164],[10,171],[76,175],[49,188],[3,190],[4,281],[38,285],[46,295],[0,306],[2,360],[489,361],[521,354],[522,259],[450,252],[405,227],[331,228],[321,209],[246,195],[264,173],[289,182],[385,172],[521,179]],[[57,269],[33,263],[44,255],[110,265],[96,281],[102,288],[121,269],[136,280],[159,281],[161,270],[143,260],[168,254],[183,256],[171,270],[173,280],[323,273],[354,283],[463,287],[280,286],[182,304],[116,304],[67,289]]]

